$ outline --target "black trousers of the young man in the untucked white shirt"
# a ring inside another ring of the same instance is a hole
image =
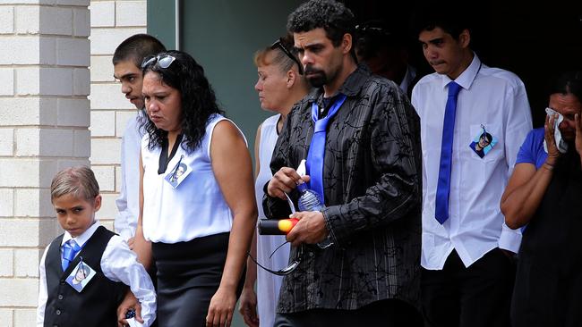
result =
[[[444,268],[421,274],[426,327],[509,327],[515,264],[494,248],[469,267],[456,251]]]

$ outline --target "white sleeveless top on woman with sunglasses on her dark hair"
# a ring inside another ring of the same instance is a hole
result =
[[[193,152],[184,149],[183,138],[166,172],[161,174],[158,174],[161,147],[150,150],[148,134],[141,139],[145,239],[176,243],[230,231],[233,216],[218,187],[210,160],[212,131],[223,120],[227,119],[219,114],[210,116],[201,146]],[[175,171],[179,161],[187,170],[174,188],[166,177]]]

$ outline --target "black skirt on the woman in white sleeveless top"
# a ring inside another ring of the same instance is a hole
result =
[[[204,326],[227,260],[228,237],[220,233],[188,242],[152,243],[158,269],[158,326]],[[236,292],[240,296],[244,281]]]

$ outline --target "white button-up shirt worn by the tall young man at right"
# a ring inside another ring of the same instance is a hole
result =
[[[434,217],[445,105],[451,80],[432,73],[416,84],[412,104],[420,116],[423,146],[423,247],[421,264],[440,270],[453,249],[468,267],[495,247],[518,252],[520,231],[504,223],[500,201],[519,147],[532,129],[526,88],[518,76],[482,64],[477,55],[457,80],[450,174],[449,219]],[[485,129],[497,144],[481,158],[469,147]]]

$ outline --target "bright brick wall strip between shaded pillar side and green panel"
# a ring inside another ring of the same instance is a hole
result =
[[[136,109],[113,78],[111,58],[125,38],[146,32],[146,1],[92,0],[90,13],[90,162],[103,195],[98,219],[112,229],[121,187],[121,138]]]

